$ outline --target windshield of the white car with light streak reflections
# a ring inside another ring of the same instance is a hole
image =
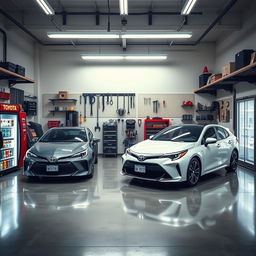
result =
[[[198,141],[203,126],[184,125],[171,126],[156,134],[152,140],[175,141],[175,142],[196,142]]]

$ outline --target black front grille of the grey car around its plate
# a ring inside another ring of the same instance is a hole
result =
[[[47,172],[46,166],[47,165],[58,165],[59,171],[58,172]],[[34,175],[38,176],[58,176],[58,175],[71,175],[77,171],[77,168],[70,162],[63,162],[63,163],[42,163],[42,162],[36,162],[31,167],[31,172]]]

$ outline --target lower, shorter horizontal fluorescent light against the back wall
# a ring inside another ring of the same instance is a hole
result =
[[[87,61],[97,61],[97,60],[105,60],[105,61],[120,61],[120,60],[134,60],[134,61],[157,61],[157,60],[166,60],[167,55],[116,55],[116,54],[83,54],[81,55],[83,60]]]

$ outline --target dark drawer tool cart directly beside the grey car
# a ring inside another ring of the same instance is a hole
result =
[[[103,156],[117,156],[117,122],[103,123]]]

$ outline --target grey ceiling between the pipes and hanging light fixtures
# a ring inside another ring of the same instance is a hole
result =
[[[56,12],[107,12],[107,0],[48,0]],[[129,12],[147,12],[149,10],[157,12],[180,12],[185,0],[129,0]],[[191,15],[188,17],[187,25],[182,27],[183,31],[192,31],[193,37],[184,43],[196,41],[205,29],[211,24],[214,18],[223,10],[229,0],[198,0],[193,11],[202,12],[202,15]],[[248,9],[252,1],[238,0],[235,6],[221,20],[221,22],[204,38],[204,42],[215,42],[223,35],[231,33],[241,28],[241,17],[243,12]],[[100,17],[100,25],[96,26],[95,16],[68,16],[67,25],[63,25],[62,16],[55,15],[53,18],[44,15],[35,0],[0,0],[0,8],[4,9],[8,14],[15,17],[23,23],[32,33],[44,42],[68,42],[66,41],[51,41],[47,38],[47,31],[56,30],[106,30],[107,16]],[[119,12],[119,0],[110,0],[111,12]],[[183,17],[180,15],[169,16],[153,16],[153,25],[148,25],[148,16],[130,15],[127,18],[127,30],[177,30]],[[14,28],[14,25],[6,21],[6,25]],[[111,28],[122,29],[120,16],[111,16]],[[75,43],[85,41],[75,41]],[[102,42],[102,41],[101,41]],[[113,42],[113,41],[111,41]],[[129,40],[131,43],[136,43],[135,40]],[[141,41],[139,41],[141,42]],[[147,43],[149,41],[145,41]],[[150,41],[152,42],[152,41]],[[154,41],[156,42],[156,41]],[[94,43],[90,41],[90,43]],[[99,43],[96,41],[96,43]],[[108,43],[108,42],[103,42]],[[118,43],[116,41],[115,43]],[[156,43],[169,43],[166,40],[159,40]]]

